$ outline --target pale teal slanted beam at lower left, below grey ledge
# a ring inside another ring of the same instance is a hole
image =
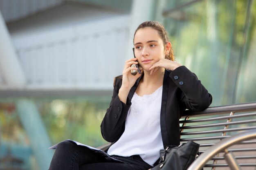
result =
[[[19,99],[16,102],[16,107],[22,126],[29,137],[30,146],[38,166],[40,170],[47,170],[53,156],[53,151],[48,149],[52,144],[36,104],[28,99]]]

